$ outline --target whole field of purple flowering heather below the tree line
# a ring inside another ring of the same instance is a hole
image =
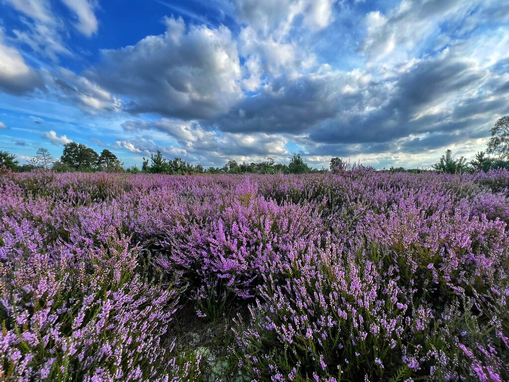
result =
[[[509,172],[0,174],[0,380],[509,380]]]

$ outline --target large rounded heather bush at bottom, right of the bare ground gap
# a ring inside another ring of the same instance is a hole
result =
[[[431,310],[365,253],[330,243],[295,259],[292,277],[268,276],[246,327],[241,370],[255,380],[388,380],[420,370],[413,357]],[[415,341],[417,339],[417,341]]]

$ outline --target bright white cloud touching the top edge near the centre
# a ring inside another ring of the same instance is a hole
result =
[[[317,64],[313,36],[334,20],[335,0],[234,2],[243,25],[239,50],[245,57],[244,89],[256,91],[272,77],[299,77]]]

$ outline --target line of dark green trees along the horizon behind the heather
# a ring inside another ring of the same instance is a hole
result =
[[[329,169],[337,172],[348,169],[350,163],[342,158],[334,157],[331,159]],[[359,164],[359,166],[362,166]],[[12,171],[23,172],[34,169],[52,170],[55,172],[68,171],[107,171],[107,172],[130,172],[130,173],[159,173],[159,174],[199,174],[199,173],[291,173],[302,174],[312,172],[327,172],[329,169],[314,169],[309,167],[300,154],[293,154],[289,164],[275,163],[272,158],[266,158],[259,162],[237,163],[234,160],[228,161],[222,167],[204,168],[201,164],[192,164],[180,157],[166,159],[158,150],[150,158],[143,158],[142,167],[134,165],[129,168],[124,167],[124,163],[111,151],[104,149],[98,154],[93,149],[82,143],[69,142],[64,145],[62,156],[55,160],[47,149],[40,148],[37,155],[26,164],[20,165],[16,155],[7,151],[0,151],[0,169],[8,168]],[[371,168],[369,166],[362,166]],[[475,159],[467,162],[464,157],[453,158],[453,152],[447,150],[440,158],[440,161],[434,164],[433,169],[444,173],[465,173],[489,171],[490,169],[505,168],[509,170],[509,115],[501,117],[491,129],[491,138],[488,142],[486,152],[481,151],[475,155]],[[406,169],[404,167],[390,167],[381,171],[390,172],[421,172],[423,169]]]

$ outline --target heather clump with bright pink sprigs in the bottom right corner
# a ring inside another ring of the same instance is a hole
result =
[[[478,312],[478,301],[470,298],[457,299],[437,315],[421,352],[428,364],[427,379],[501,382],[509,378],[507,297],[500,297],[484,324],[473,313]]]

